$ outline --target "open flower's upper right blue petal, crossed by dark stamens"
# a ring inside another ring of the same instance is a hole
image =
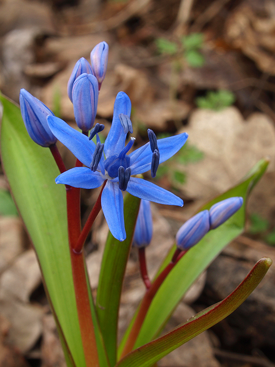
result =
[[[160,150],[160,163],[165,162],[167,159],[171,158],[177,151],[179,151],[179,149],[186,142],[187,138],[188,134],[186,132],[183,132],[182,134],[169,136],[167,138],[157,140]],[[144,149],[143,146],[129,154],[131,158],[132,175],[144,173],[151,169],[152,151],[150,145],[148,145],[147,148],[138,156],[139,151],[142,149]]]

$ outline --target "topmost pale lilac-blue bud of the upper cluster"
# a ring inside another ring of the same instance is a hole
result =
[[[99,43],[91,52],[93,74],[98,79],[99,89],[105,78],[108,64],[109,46],[106,42]]]

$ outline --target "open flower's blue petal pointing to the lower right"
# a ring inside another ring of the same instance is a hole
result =
[[[141,199],[154,201],[156,203],[183,206],[181,198],[155,185],[155,183],[143,179],[131,177],[126,191]]]

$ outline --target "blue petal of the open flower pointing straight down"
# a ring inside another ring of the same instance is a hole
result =
[[[123,196],[117,183],[107,181],[101,197],[101,205],[110,232],[119,241],[126,239],[123,216]]]

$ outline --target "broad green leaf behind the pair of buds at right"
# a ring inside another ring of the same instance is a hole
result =
[[[245,204],[248,194],[255,183],[264,174],[269,161],[261,160],[250,171],[246,178],[229,189],[214,200],[211,200],[201,210],[210,209],[216,202],[231,196],[242,196],[244,204],[231,218],[216,230],[210,231],[196,246],[192,247],[172,269],[164,283],[157,292],[141,327],[137,338],[135,348],[138,348],[151,340],[155,339],[162,331],[165,323],[172,314],[173,310],[190,288],[198,276],[207,268],[220,251],[234,238],[240,235],[244,229],[245,223]],[[164,269],[171,260],[175,246],[169,251],[158,274]],[[165,303],[163,302],[165,300]],[[131,325],[130,325],[131,327]],[[125,345],[130,327],[125,333],[121,345],[119,346],[119,355]]]

